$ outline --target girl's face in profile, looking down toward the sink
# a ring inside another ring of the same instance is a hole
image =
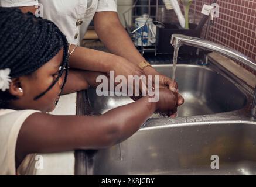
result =
[[[45,95],[37,100],[34,100],[34,98],[46,91],[57,78],[62,60],[63,49],[52,60],[33,72],[32,75],[19,77],[19,84],[22,87],[23,95],[18,96],[18,100],[13,100],[11,105],[18,109],[33,109],[42,112],[54,110],[55,103],[59,99],[65,73]]]

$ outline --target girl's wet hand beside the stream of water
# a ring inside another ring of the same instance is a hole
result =
[[[164,113],[168,116],[175,114],[178,107],[178,93],[166,88],[160,88],[159,92],[158,110],[156,112]]]

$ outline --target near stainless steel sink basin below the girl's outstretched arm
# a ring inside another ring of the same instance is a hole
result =
[[[255,175],[256,123],[219,122],[142,128],[87,154],[87,175]],[[219,169],[211,168],[211,156]]]

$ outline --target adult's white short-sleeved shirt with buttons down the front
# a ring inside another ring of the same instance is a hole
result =
[[[54,22],[71,44],[80,44],[96,12],[117,12],[116,0],[0,0],[0,6],[35,6]],[[81,25],[80,25],[81,24]]]

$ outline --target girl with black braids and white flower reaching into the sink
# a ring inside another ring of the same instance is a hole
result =
[[[0,8],[0,46],[0,174],[15,175],[28,154],[112,146],[156,110],[169,112],[178,103],[177,93],[160,89],[158,102],[144,96],[100,116],[49,115],[60,93],[95,85],[101,73],[69,69],[58,27],[16,8]]]

